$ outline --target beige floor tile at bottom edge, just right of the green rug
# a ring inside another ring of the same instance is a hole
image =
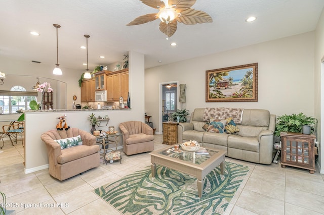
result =
[[[285,202],[253,191],[243,190],[237,206],[257,214],[284,214]]]

